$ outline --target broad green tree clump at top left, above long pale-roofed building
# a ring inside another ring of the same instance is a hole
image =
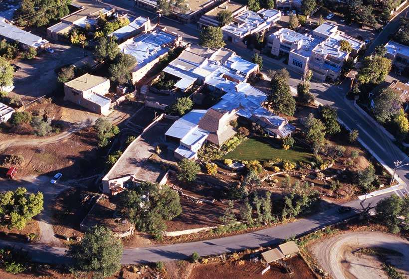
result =
[[[14,16],[20,26],[44,26],[67,15],[70,2],[71,0],[22,0]]]

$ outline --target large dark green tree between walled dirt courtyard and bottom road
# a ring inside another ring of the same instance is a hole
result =
[[[161,235],[165,220],[182,213],[179,194],[167,185],[143,182],[122,193],[121,204],[126,216],[143,232]]]

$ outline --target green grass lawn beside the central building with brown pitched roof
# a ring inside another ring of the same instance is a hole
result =
[[[311,162],[313,156],[311,153],[305,152],[303,148],[293,146],[291,149],[284,150],[282,148],[275,148],[268,142],[277,143],[275,139],[269,138],[251,138],[240,143],[236,149],[227,153],[225,159],[233,160],[269,160],[280,158],[292,162]]]

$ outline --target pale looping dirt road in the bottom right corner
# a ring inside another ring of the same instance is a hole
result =
[[[373,256],[357,255],[358,248],[384,248],[401,253],[388,260],[409,277],[409,242],[382,232],[343,233],[310,248],[318,262],[334,279],[388,279],[382,263]]]

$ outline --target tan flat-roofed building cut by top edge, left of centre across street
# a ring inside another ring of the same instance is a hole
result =
[[[177,8],[172,9],[170,17],[176,18],[183,23],[198,22],[200,17],[205,14],[214,6],[221,3],[221,0],[187,0],[186,10],[179,10]],[[157,12],[158,3],[157,0],[135,0],[137,7]]]

